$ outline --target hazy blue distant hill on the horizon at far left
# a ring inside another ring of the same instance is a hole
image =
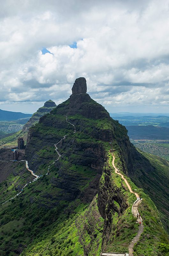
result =
[[[12,112],[0,109],[0,121],[12,121],[19,118],[31,117],[32,114],[24,114],[21,112]]]

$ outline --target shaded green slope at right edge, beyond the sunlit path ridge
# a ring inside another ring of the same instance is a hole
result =
[[[169,227],[169,162],[161,157],[140,151],[148,164],[138,163],[135,165],[135,173],[130,178],[135,184],[144,189],[160,211],[163,224]]]

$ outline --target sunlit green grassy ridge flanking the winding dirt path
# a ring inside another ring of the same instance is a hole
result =
[[[122,164],[119,161],[119,156],[117,152],[115,155],[115,165],[119,168],[122,173]],[[117,213],[112,217],[112,241],[106,247],[106,250],[113,252],[128,252],[129,242],[136,236],[138,226],[136,224],[135,218],[131,213],[131,205],[136,200],[134,194],[131,194],[127,189],[125,182],[115,174],[114,169],[112,169],[112,156],[109,158],[108,165],[111,168],[111,178],[115,186],[121,188],[124,195],[127,197],[128,207],[121,216]],[[127,178],[127,176],[126,176]],[[143,192],[142,188],[136,187],[136,185],[127,178],[132,190],[136,189],[136,192],[143,198],[142,203],[139,205],[139,212],[143,218],[144,231],[141,235],[139,243],[135,246],[134,255],[162,255],[159,249],[159,244],[168,243],[167,235],[162,227],[160,220],[160,214],[157,211],[155,204],[152,202],[150,197]]]

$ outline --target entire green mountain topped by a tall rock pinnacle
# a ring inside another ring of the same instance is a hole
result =
[[[169,163],[137,151],[86,91],[76,79],[29,128],[26,163],[1,163],[0,255],[165,255]]]

